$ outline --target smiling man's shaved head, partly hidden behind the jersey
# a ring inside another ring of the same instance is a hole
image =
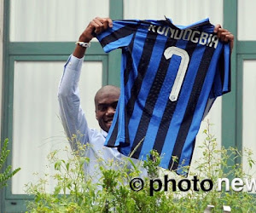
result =
[[[95,95],[96,119],[102,130],[108,132],[119,101],[120,89],[113,85],[107,85],[99,89]]]

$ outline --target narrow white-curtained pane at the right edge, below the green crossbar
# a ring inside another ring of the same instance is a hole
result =
[[[256,160],[256,60],[243,62],[243,91],[242,91],[242,146],[253,151]],[[255,176],[255,167],[250,170],[244,156],[244,169]]]

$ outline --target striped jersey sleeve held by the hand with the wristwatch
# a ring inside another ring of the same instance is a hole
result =
[[[137,26],[136,20],[114,20],[113,27],[98,34],[96,38],[102,44],[103,50],[108,53],[113,49],[128,46]]]

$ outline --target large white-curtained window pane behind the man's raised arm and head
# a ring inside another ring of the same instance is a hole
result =
[[[53,172],[45,167],[47,154],[66,146],[70,148],[57,101],[63,65],[64,62],[15,62],[13,168],[21,170],[12,179],[12,193],[23,194],[26,183],[38,180],[33,173],[42,176]],[[94,95],[101,86],[102,62],[84,62],[79,87],[90,128],[99,129]],[[61,156],[66,159],[67,153],[62,152]]]

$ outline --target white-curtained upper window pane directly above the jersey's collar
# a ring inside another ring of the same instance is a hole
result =
[[[125,19],[165,19],[171,18],[173,23],[188,25],[197,20],[210,18],[212,24],[223,23],[223,0],[124,0]],[[145,5],[148,5],[145,8]]]

